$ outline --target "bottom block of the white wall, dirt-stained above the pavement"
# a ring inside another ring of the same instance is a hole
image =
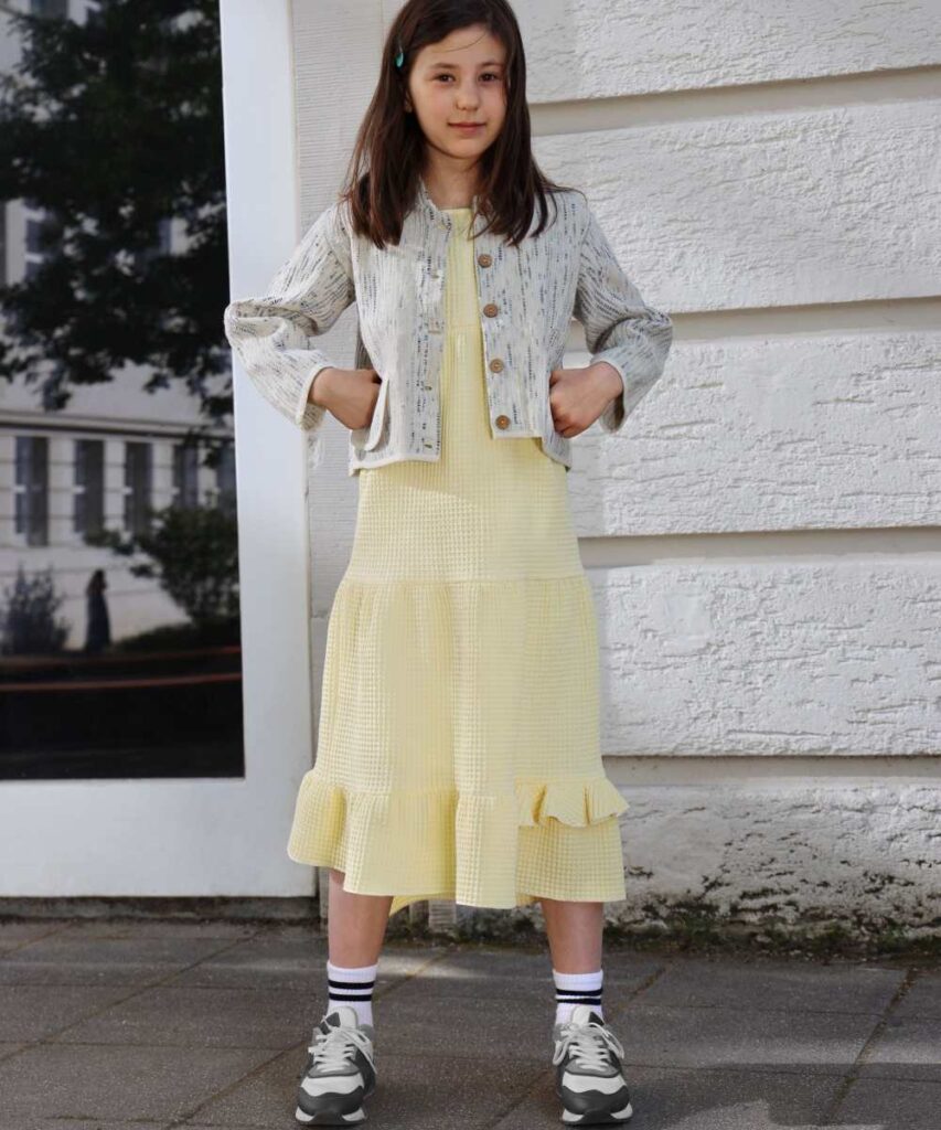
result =
[[[859,915],[918,935],[936,929],[936,785],[651,786],[621,819],[625,922],[648,924],[689,903],[742,921],[778,918],[785,928]]]

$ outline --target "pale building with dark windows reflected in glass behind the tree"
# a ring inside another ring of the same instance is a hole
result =
[[[94,8],[87,0],[0,3],[0,71],[12,69],[18,59],[11,10],[82,19]],[[35,201],[0,202],[0,286],[40,268],[42,225]],[[184,238],[182,224],[164,220],[151,253],[172,254]],[[55,410],[37,402],[35,385],[0,382],[0,590],[19,566],[27,574],[52,567],[64,597],[61,614],[71,624],[68,647],[81,645],[86,584],[97,568],[108,575],[115,638],[182,615],[154,581],[132,576],[112,551],[86,545],[87,533],[104,527],[143,532],[148,511],[171,504],[216,499],[234,513],[230,429],[215,433],[228,441],[219,467],[201,466],[202,453],[183,442],[188,429],[200,424],[198,400],[182,381],[146,392],[147,376],[140,366],[125,366],[106,384],[73,386],[68,407]]]

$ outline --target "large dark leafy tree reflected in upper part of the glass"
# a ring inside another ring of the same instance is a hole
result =
[[[45,258],[0,287],[0,379],[70,386],[153,370],[185,380],[207,436],[232,414],[218,0],[103,0],[89,19],[10,12],[23,58],[0,79],[0,200],[46,215]],[[157,245],[173,217],[184,246]],[[220,388],[223,392],[220,393]]]

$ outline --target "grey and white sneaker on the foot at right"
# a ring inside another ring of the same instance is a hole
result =
[[[634,1110],[621,1071],[624,1048],[591,1005],[552,1027],[556,1094],[566,1125],[627,1122]]]

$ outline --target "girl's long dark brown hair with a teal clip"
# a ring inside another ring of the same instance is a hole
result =
[[[415,58],[426,44],[474,24],[486,26],[506,51],[506,118],[480,158],[478,207],[487,220],[483,231],[519,244],[530,229],[538,200],[540,220],[531,234],[539,235],[548,217],[547,194],[567,189],[550,181],[532,155],[523,40],[506,0],[408,0],[389,28],[378,82],[340,198],[349,202],[355,234],[368,236],[378,247],[399,243],[402,221],[418,193],[425,136],[417,115],[404,110]],[[397,67],[400,49],[404,60]]]

